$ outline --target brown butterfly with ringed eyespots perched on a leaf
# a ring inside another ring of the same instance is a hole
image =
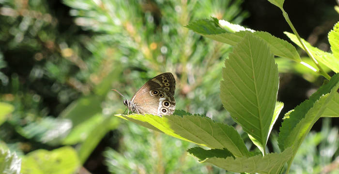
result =
[[[138,114],[171,115],[175,109],[175,79],[172,73],[162,73],[145,83],[130,101],[123,104]]]

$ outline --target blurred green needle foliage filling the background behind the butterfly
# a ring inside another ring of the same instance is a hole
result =
[[[93,167],[102,161],[86,163],[100,142],[110,147],[111,173],[227,173],[187,156],[187,142],[113,117],[124,105],[110,89],[131,97],[149,78],[172,72],[177,109],[234,124],[219,98],[231,46],[184,26],[206,16],[240,23],[248,16],[243,0],[62,2],[0,0],[0,108],[14,108],[0,109],[0,148],[23,159],[25,174],[53,170],[57,158],[68,158],[54,166],[67,173],[83,165],[102,174]]]

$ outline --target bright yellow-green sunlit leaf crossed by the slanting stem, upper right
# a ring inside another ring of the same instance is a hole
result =
[[[284,33],[287,35],[287,37],[291,39],[291,41],[293,41],[293,43],[297,44],[300,48],[304,49],[294,34],[286,32],[286,31]],[[339,58],[338,57],[336,58],[333,56],[333,54],[324,52],[323,50],[313,47],[311,44],[306,42],[304,39],[301,39],[301,40],[305,43],[306,47],[309,49],[309,51],[311,52],[311,54],[313,55],[315,59],[322,62],[325,66],[330,68],[335,73],[339,72]]]

